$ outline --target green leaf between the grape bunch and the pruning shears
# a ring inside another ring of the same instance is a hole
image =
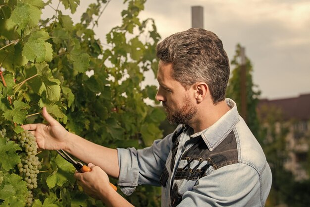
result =
[[[50,189],[55,186],[61,187],[68,181],[70,183],[74,183],[75,179],[73,177],[73,173],[75,172],[75,168],[71,163],[63,159],[60,155],[53,158],[51,162],[55,163],[57,167],[52,175],[50,175],[46,180]]]

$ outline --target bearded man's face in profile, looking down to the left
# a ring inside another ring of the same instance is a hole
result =
[[[157,80],[159,88],[156,100],[162,102],[170,124],[189,124],[197,113],[197,108],[190,98],[189,90],[171,76],[172,64],[159,61]]]

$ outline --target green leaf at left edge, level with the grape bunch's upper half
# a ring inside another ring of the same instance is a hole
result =
[[[0,167],[9,171],[13,169],[16,164],[20,163],[20,157],[16,150],[21,148],[14,141],[7,141],[6,138],[0,138]]]

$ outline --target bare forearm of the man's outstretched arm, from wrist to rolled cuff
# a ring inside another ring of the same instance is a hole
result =
[[[118,178],[117,150],[95,144],[87,139],[68,133],[66,151],[85,163],[101,167],[109,176]]]

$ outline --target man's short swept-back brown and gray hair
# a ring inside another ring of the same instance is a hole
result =
[[[213,104],[225,99],[229,60],[222,41],[213,32],[191,28],[175,33],[157,45],[156,56],[172,64],[171,76],[186,89],[196,82],[205,82]]]

